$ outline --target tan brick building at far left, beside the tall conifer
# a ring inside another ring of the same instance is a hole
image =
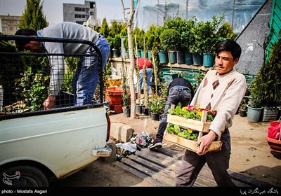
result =
[[[21,16],[0,15],[0,32],[6,35],[14,35],[20,24]]]

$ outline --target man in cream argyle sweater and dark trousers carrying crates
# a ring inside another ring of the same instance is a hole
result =
[[[245,76],[233,68],[240,55],[241,47],[234,40],[227,39],[216,46],[216,70],[207,72],[190,105],[218,112],[209,133],[197,140],[198,151],[185,151],[176,186],[193,186],[206,162],[218,186],[235,186],[227,172],[231,150],[228,127],[232,126],[247,89]],[[221,130],[224,130],[223,134]],[[216,137],[221,137],[221,151],[207,153]]]

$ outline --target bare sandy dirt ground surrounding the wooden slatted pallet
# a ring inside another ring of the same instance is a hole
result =
[[[136,119],[124,117],[123,113],[110,115],[111,123],[124,123],[133,128],[134,134],[148,132],[155,138],[159,121],[137,115]],[[236,115],[233,127],[230,127],[232,154],[230,169],[247,176],[281,187],[281,153],[270,151],[264,137],[269,123],[249,123],[247,117]],[[183,152],[173,144],[164,148],[173,148]],[[71,176],[56,181],[51,187],[151,187],[148,181],[126,172],[114,163],[106,163],[103,158],[93,162]]]

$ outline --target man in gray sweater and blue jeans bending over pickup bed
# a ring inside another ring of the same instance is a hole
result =
[[[110,44],[106,38],[98,34],[89,27],[84,27],[74,22],[60,22],[56,25],[46,27],[41,30],[18,29],[15,35],[23,36],[42,36],[54,38],[75,38],[92,41],[101,52],[103,69],[110,54]],[[19,51],[24,49],[31,52],[48,52],[50,54],[93,54],[92,47],[82,43],[58,43],[58,42],[40,42],[40,41],[15,41]],[[48,97],[43,103],[44,109],[53,109],[55,107],[55,96],[58,95],[63,83],[64,65],[63,58],[51,59],[51,78]],[[89,63],[90,62],[90,63]],[[82,57],[74,73],[72,86],[74,89],[74,105],[81,106],[91,104],[93,93],[98,85],[98,65],[99,59],[96,55]]]

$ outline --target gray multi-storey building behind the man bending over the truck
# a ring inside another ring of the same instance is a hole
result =
[[[63,21],[83,25],[89,18],[97,21],[96,1],[85,0],[84,4],[63,3]]]

